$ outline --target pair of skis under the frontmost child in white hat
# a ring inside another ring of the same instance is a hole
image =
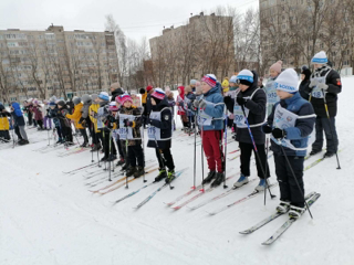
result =
[[[316,200],[321,197],[320,193],[311,192],[305,197],[305,200],[308,202],[309,208],[316,202]],[[270,216],[266,218],[258,224],[251,226],[248,230],[241,231],[240,234],[251,234],[254,231],[263,227],[266,224],[270,223],[271,221],[278,219],[280,215],[283,215],[284,213],[275,212],[271,214]],[[262,243],[262,245],[271,245],[274,243],[298,219],[289,218],[283,225],[281,225],[274,234],[272,234],[267,241]]]

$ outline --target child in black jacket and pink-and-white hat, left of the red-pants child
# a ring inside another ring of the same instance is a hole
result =
[[[147,118],[147,147],[156,148],[156,157],[159,165],[159,174],[155,181],[166,178],[166,183],[175,179],[175,163],[170,153],[173,137],[173,114],[168,106],[167,97],[162,88],[156,88],[150,97],[152,113]],[[166,167],[168,172],[166,173]]]

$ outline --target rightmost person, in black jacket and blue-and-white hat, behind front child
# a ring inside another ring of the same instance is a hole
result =
[[[339,148],[335,116],[337,112],[337,94],[342,92],[341,76],[329,65],[329,60],[323,51],[315,54],[311,63],[314,66],[314,72],[305,91],[310,94],[309,100],[317,117],[315,121],[316,140],[312,145],[310,155],[322,151],[324,131],[327,149],[324,157],[332,157],[337,152]]]

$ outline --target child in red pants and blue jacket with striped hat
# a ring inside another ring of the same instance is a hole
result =
[[[207,74],[201,78],[202,96],[194,102],[198,109],[198,125],[201,127],[201,139],[204,151],[207,157],[209,173],[204,183],[211,183],[217,187],[223,181],[222,165],[222,128],[225,104],[217,86],[217,78],[214,74]]]

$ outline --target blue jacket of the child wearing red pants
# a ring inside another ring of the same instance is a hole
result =
[[[215,86],[209,92],[204,94],[202,99],[206,100],[207,106],[205,113],[212,118],[211,125],[204,125],[204,130],[221,130],[223,128],[223,112],[225,104],[223,97],[220,93],[219,87]]]

